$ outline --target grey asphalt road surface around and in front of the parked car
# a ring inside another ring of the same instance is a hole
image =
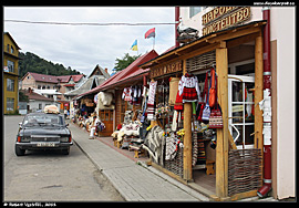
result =
[[[3,117],[4,201],[122,201],[121,195],[74,144],[70,155],[31,150],[17,157],[23,116]]]

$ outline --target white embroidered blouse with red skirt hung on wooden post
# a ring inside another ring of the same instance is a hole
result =
[[[183,103],[198,101],[200,91],[197,76],[189,73],[183,75],[178,84],[178,92],[179,95],[183,95]]]

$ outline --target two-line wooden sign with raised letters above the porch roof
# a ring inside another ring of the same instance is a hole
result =
[[[250,7],[217,7],[202,17],[203,35],[236,25],[250,18]]]

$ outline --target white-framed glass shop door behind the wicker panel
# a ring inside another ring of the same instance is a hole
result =
[[[254,148],[255,77],[228,74],[228,126],[238,149]]]

